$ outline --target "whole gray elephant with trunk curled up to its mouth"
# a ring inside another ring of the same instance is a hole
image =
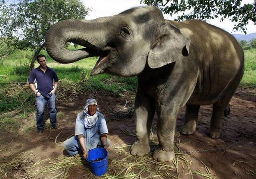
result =
[[[68,51],[67,42],[86,48]],[[174,158],[176,116],[185,104],[182,134],[193,134],[200,105],[212,104],[208,134],[220,137],[222,114],[244,71],[243,51],[232,35],[200,20],[164,20],[153,6],[95,20],[58,22],[46,35],[46,49],[60,63],[100,56],[91,75],[136,75],[136,142],[130,152],[149,153],[156,112],[160,148],[153,158],[162,162]]]

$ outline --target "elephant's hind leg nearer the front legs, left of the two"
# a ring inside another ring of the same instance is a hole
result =
[[[200,106],[186,104],[185,124],[182,134],[190,135],[196,132],[196,123]]]

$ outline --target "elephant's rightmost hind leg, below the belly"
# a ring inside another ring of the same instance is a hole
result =
[[[222,117],[225,108],[226,105],[219,106],[218,104],[213,104],[212,118],[210,122],[210,128],[208,131],[208,135],[210,136],[210,138],[220,137]]]

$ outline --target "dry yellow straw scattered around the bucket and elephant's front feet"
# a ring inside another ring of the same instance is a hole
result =
[[[156,148],[157,144],[150,143],[151,148]],[[152,152],[142,157],[134,157],[130,154],[130,144],[123,144],[113,147],[111,150],[118,153],[120,157],[109,159],[108,171],[101,177],[93,175],[89,169],[88,163],[82,160],[79,155],[74,157],[58,157],[54,162],[48,162],[50,165],[45,167],[42,172],[54,173],[53,178],[69,177],[71,169],[79,167],[84,170],[84,177],[92,179],[180,179],[181,174],[188,175],[193,179],[193,175],[200,175],[206,179],[216,179],[211,173],[209,167],[203,163],[203,167],[191,170],[193,163],[192,157],[182,155],[176,149],[176,157],[172,162],[160,163],[152,159]],[[184,173],[186,172],[186,173]],[[60,177],[61,176],[61,177]]]

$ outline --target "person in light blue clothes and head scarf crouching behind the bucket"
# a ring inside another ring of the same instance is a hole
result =
[[[75,136],[66,140],[63,144],[69,155],[73,156],[83,152],[82,157],[88,157],[88,151],[97,147],[103,147],[109,151],[110,141],[107,139],[108,128],[104,116],[98,112],[98,104],[95,99],[88,99],[83,112],[76,117]]]

